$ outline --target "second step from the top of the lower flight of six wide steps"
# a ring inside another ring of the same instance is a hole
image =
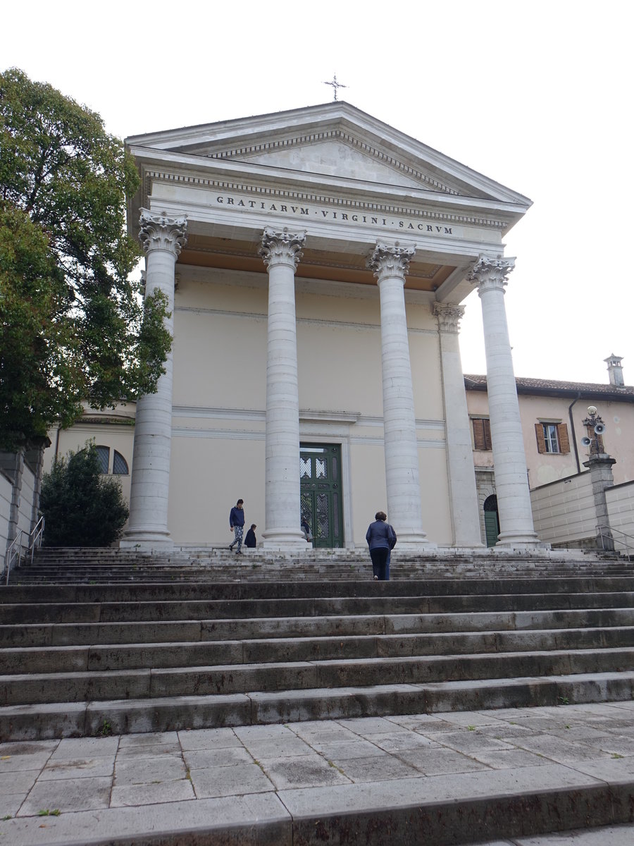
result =
[[[0,604],[0,625],[114,623],[351,614],[481,613],[634,607],[634,593],[495,594],[484,596],[345,596],[307,599]]]

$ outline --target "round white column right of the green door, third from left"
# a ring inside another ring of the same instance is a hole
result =
[[[423,530],[418,444],[405,314],[405,274],[413,247],[377,244],[368,265],[379,283],[387,519],[399,548],[428,549]],[[377,509],[380,503],[377,503]]]

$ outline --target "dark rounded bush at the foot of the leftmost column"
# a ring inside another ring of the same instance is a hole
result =
[[[121,484],[101,475],[94,442],[55,461],[42,479],[47,547],[108,547],[121,537],[128,505]]]

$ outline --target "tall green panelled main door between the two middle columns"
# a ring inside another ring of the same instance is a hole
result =
[[[299,445],[302,517],[317,548],[343,547],[341,444]]]

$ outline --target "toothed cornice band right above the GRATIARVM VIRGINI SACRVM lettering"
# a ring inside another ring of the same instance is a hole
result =
[[[384,213],[402,217],[418,217],[424,220],[435,220],[448,223],[464,224],[467,226],[479,226],[483,228],[505,231],[509,222],[498,220],[495,217],[477,217],[474,215],[462,215],[449,211],[433,211],[431,209],[412,208],[411,206],[395,206],[390,203],[363,202],[353,200],[350,197],[342,197],[329,194],[313,194],[307,191],[292,189],[279,189],[265,185],[245,184],[225,179],[205,179],[205,177],[193,176],[191,174],[174,173],[167,170],[145,170],[144,193],[145,200],[151,193],[151,182],[158,179],[163,182],[176,182],[195,187],[214,188],[225,191],[240,191],[244,194],[251,194],[267,199],[287,199],[293,201],[304,201],[324,206],[338,206],[345,209],[357,209],[358,211]]]

